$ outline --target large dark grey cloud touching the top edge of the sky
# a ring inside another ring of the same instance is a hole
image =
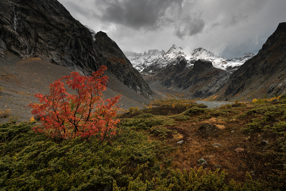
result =
[[[99,2],[100,0],[97,0]],[[158,29],[168,19],[166,13],[170,7],[181,7],[183,0],[124,0],[100,1],[99,5],[105,7],[102,20],[118,23],[134,29],[142,27],[151,30]]]

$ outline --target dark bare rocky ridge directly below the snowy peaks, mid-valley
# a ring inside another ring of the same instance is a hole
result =
[[[184,91],[185,98],[206,98],[219,91],[231,73],[215,68],[212,62],[206,60],[196,61],[190,67],[185,60],[175,65],[168,65],[159,73],[144,76],[154,89],[172,89]]]

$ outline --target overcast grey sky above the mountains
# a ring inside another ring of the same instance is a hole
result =
[[[189,56],[202,47],[225,58],[258,53],[278,24],[286,0],[58,0],[94,31],[104,31],[122,51],[168,51]]]

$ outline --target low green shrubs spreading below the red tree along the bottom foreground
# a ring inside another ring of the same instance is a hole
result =
[[[171,168],[174,148],[123,130],[110,142],[80,138],[55,143],[31,124],[0,124],[0,187],[3,190],[237,190],[259,189],[247,175],[242,186],[224,171]],[[119,136],[120,135],[120,136]],[[271,189],[271,188],[269,188]]]

